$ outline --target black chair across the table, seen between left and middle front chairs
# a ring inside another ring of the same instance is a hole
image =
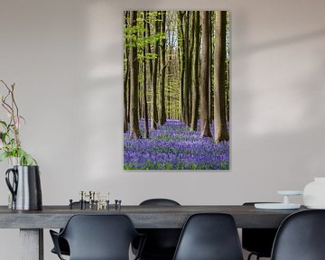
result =
[[[140,206],[181,206],[175,200],[170,199],[149,199],[140,203]],[[142,228],[137,229],[142,234],[145,234],[146,240],[141,260],[172,260],[175,249],[181,235],[181,228]],[[138,241],[133,243],[133,252],[136,253],[138,249]]]

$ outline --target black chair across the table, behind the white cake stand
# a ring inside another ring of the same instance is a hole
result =
[[[254,206],[260,202],[246,202],[244,206]],[[271,257],[272,246],[277,228],[243,228],[242,246],[243,249],[250,252],[247,260],[255,255],[256,260],[260,257]]]

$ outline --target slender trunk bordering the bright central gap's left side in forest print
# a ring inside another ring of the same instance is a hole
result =
[[[166,33],[166,11],[162,11],[162,25],[161,32],[163,35]],[[165,82],[166,82],[166,38],[163,36],[162,38],[162,48],[161,48],[161,75],[162,80],[160,84],[160,101],[161,101],[161,109],[159,121],[160,125],[166,124],[166,106],[165,106]]]

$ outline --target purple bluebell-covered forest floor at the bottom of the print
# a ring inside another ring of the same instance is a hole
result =
[[[140,122],[144,133],[144,122]],[[167,120],[149,139],[130,139],[124,135],[125,170],[228,170],[229,142],[215,144],[213,138],[190,132],[178,120]]]

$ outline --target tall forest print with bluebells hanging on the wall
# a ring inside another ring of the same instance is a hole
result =
[[[228,11],[124,21],[124,169],[229,170]]]

